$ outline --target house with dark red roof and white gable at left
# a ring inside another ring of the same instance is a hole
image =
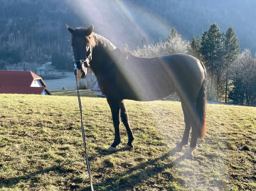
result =
[[[51,95],[40,76],[27,71],[0,70],[0,94]]]

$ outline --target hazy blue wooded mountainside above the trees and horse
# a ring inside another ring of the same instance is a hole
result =
[[[216,22],[222,32],[230,26],[236,30],[241,50],[256,51],[254,0],[2,0],[0,4],[0,69],[20,62],[23,68],[27,63],[41,65],[54,51],[72,57],[64,24],[73,28],[94,24],[95,32],[117,47],[127,43],[133,50],[143,45],[142,39],[146,44],[165,40],[172,27],[191,40]],[[8,59],[4,54],[21,58]]]

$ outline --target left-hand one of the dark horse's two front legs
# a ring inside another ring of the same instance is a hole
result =
[[[120,138],[120,104],[119,101],[107,98],[112,113],[113,125],[115,128],[115,138],[113,144],[108,148],[109,151],[116,151],[117,145],[121,142]]]

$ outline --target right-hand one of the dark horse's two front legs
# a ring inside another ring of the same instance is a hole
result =
[[[134,136],[133,136],[133,133],[132,133],[132,130],[130,127],[129,118],[127,115],[124,100],[121,100],[121,102],[120,102],[120,111],[121,111],[121,119],[124,123],[124,126],[125,126],[127,134],[128,134],[128,143],[125,146],[125,148],[130,149],[130,148],[133,148],[132,141],[134,140]]]

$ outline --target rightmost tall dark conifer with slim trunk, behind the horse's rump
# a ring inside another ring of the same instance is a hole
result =
[[[233,64],[239,56],[240,44],[236,36],[236,32],[232,27],[229,27],[225,34],[224,40],[224,55],[226,65],[226,87],[225,87],[225,103],[227,103],[228,80],[229,80],[229,66]]]

